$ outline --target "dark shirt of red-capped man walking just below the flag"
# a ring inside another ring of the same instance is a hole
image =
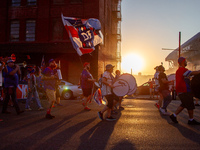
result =
[[[81,88],[82,89],[90,89],[93,87],[93,82],[88,81],[88,79],[92,79],[92,75],[86,69],[83,69],[81,73]]]

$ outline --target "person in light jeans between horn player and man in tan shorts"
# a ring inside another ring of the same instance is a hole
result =
[[[41,103],[40,103],[39,95],[38,95],[37,88],[36,88],[35,69],[36,69],[36,66],[29,66],[28,67],[28,75],[27,75],[27,79],[28,79],[28,97],[27,97],[27,100],[26,100],[25,110],[32,110],[30,108],[30,102],[31,102],[32,98],[35,99],[35,101],[37,103],[37,106],[38,106],[38,110],[43,110],[44,109],[42,107]]]

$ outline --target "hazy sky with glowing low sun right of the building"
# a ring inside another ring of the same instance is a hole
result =
[[[154,74],[154,67],[200,32],[200,0],[122,0],[122,71]]]

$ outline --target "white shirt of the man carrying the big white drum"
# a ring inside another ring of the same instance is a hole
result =
[[[114,79],[112,74],[110,72],[108,72],[108,71],[105,71],[103,73],[103,78],[106,78],[106,81],[107,81],[108,84],[112,84],[113,79]],[[102,92],[103,96],[112,94],[111,87],[105,85],[104,83],[102,84],[101,92]]]

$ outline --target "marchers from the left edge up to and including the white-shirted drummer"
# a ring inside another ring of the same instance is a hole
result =
[[[39,67],[38,67],[39,68]],[[82,105],[84,106],[84,110],[89,111],[91,110],[88,107],[88,103],[91,102],[94,91],[94,86],[96,84],[99,85],[99,88],[102,90],[103,96],[107,99],[107,105],[105,108],[98,112],[98,115],[101,120],[103,120],[103,113],[105,111],[108,112],[108,116],[106,120],[113,121],[115,118],[111,116],[112,113],[114,113],[114,109],[117,109],[116,105],[119,104],[119,109],[123,109],[121,106],[122,97],[117,97],[112,92],[112,83],[117,79],[117,77],[120,75],[120,71],[116,71],[116,77],[113,77],[113,68],[111,64],[106,66],[106,71],[104,74],[102,74],[102,81],[99,80],[99,82],[96,82],[96,80],[93,78],[93,76],[90,73],[90,63],[85,62],[83,64],[83,71],[81,73],[80,77],[80,85],[83,91],[83,100]],[[44,110],[44,108],[41,105],[39,94],[38,94],[38,88],[41,88],[38,86],[38,80],[43,82],[43,90],[45,91],[46,98],[49,102],[49,106],[46,110],[45,117],[47,119],[53,119],[55,118],[54,115],[52,115],[52,108],[55,107],[55,103],[58,106],[62,106],[60,104],[60,95],[58,92],[58,83],[59,83],[59,77],[57,73],[57,64],[54,59],[49,60],[49,66],[41,70],[41,68],[38,69],[37,76],[36,76],[36,66],[35,65],[29,65],[26,67],[27,75],[25,76],[25,79],[28,83],[28,93],[27,93],[27,99],[25,102],[25,110],[31,111],[31,100],[36,101],[36,105],[38,107],[38,110]],[[7,111],[8,103],[10,100],[12,100],[13,106],[16,109],[16,112],[18,115],[24,112],[24,110],[21,110],[16,96],[16,89],[19,84],[19,75],[21,74],[20,66],[15,64],[14,60],[12,59],[3,59],[0,63],[0,86],[3,87],[3,108],[2,113],[3,114],[10,114],[9,111]],[[115,107],[114,107],[115,106]],[[2,120],[0,120],[2,121]]]

